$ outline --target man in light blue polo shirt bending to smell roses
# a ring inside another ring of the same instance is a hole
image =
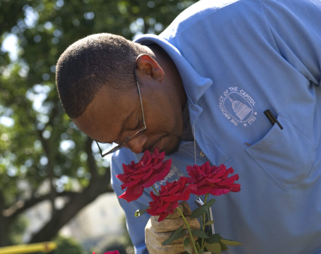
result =
[[[119,145],[118,196],[122,163],[146,149],[172,158],[156,189],[195,161],[232,166],[241,191],[214,197],[215,232],[244,245],[226,253],[321,253],[320,24],[319,0],[201,0],[159,36],[71,45],[59,95],[80,130]],[[149,216],[134,212],[149,192],[120,200],[136,253],[148,253]]]

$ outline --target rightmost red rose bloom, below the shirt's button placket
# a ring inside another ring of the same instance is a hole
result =
[[[187,166],[188,183],[196,183],[196,190],[192,193],[195,195],[204,195],[210,193],[215,196],[226,194],[230,191],[240,191],[240,184],[234,183],[239,179],[239,175],[235,174],[228,177],[229,174],[234,173],[232,167],[226,169],[226,166],[221,164],[219,167],[210,166],[209,162],[201,166],[194,165]]]

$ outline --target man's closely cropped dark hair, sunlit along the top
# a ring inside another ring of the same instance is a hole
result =
[[[56,65],[56,86],[70,118],[77,118],[102,86],[126,91],[135,85],[138,43],[110,33],[93,34],[70,45]]]

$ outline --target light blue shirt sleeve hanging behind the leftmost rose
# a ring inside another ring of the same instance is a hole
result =
[[[128,151],[127,151],[128,150]],[[116,177],[117,174],[123,173],[122,164],[129,164],[132,160],[137,162],[135,155],[129,149],[123,148],[121,153],[117,152],[111,157],[111,184],[117,194],[117,197],[124,193],[125,190],[121,189],[122,182]],[[148,254],[145,245],[145,226],[150,218],[150,215],[144,213],[142,216],[135,217],[135,211],[138,209],[148,208],[150,201],[149,188],[145,188],[143,195],[134,201],[127,202],[125,199],[118,199],[121,207],[126,214],[126,226],[129,236],[134,245],[135,254]]]

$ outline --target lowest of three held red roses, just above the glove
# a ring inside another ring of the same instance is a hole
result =
[[[160,186],[160,194],[155,195],[151,191],[153,201],[149,202],[149,207],[146,212],[150,215],[159,215],[158,222],[165,219],[169,214],[178,207],[178,200],[188,200],[191,191],[195,189],[195,184],[186,185],[185,177],[180,177],[178,181],[166,182],[166,185]]]

